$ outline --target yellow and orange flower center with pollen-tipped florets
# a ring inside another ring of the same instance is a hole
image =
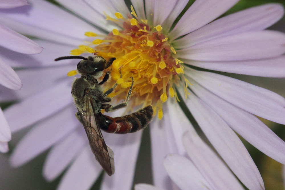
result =
[[[87,45],[80,45],[78,49],[72,50],[71,54],[89,52],[106,60],[115,57],[116,60],[107,68],[111,70],[111,80],[105,89],[117,83],[110,97],[125,99],[131,86],[130,77],[133,77],[131,97],[133,101],[129,103],[131,107],[152,105],[154,113],[158,112],[158,118],[162,119],[162,106],[168,95],[178,100],[174,85],[181,77],[185,79],[183,62],[175,58],[176,52],[169,43],[167,35],[162,33],[162,26],[148,25],[147,20],[139,20],[132,6],[131,10],[135,18],[131,15],[124,18],[121,13],[115,13],[116,18],[107,15],[107,20],[122,29],[114,28],[108,35],[86,32],[85,35],[90,38],[102,39],[97,38]]]

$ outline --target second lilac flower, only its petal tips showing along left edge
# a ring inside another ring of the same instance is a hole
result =
[[[25,0],[14,0],[9,2],[0,2],[0,8],[3,11],[9,12],[9,9],[28,5]],[[42,51],[42,47],[38,46],[29,38],[15,32],[7,26],[0,23],[0,45],[9,50],[23,53],[23,54],[38,54]],[[0,84],[13,89],[19,90],[22,83],[15,71],[7,64],[7,55],[0,53]],[[8,141],[11,140],[11,131],[7,120],[0,108],[0,152],[8,152]]]

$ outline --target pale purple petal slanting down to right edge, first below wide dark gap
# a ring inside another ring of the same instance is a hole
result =
[[[285,99],[267,89],[224,75],[191,70],[200,85],[217,96],[259,117],[285,124]]]

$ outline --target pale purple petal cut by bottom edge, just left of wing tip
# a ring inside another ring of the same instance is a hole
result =
[[[102,167],[95,159],[88,144],[74,163],[68,168],[57,189],[88,190],[92,187],[101,171]]]

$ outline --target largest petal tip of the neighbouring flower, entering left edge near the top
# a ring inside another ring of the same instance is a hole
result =
[[[34,41],[15,32],[14,30],[0,24],[0,46],[23,54],[39,54],[42,47],[38,46]]]

